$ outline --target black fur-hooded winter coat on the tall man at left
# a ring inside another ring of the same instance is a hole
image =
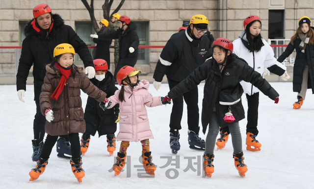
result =
[[[26,90],[26,80],[29,69],[33,66],[34,84],[41,87],[46,76],[46,65],[53,61],[53,49],[61,43],[71,44],[75,52],[83,60],[84,66],[92,66],[93,59],[87,45],[78,37],[72,27],[65,25],[58,14],[52,14],[53,27],[47,36],[47,32],[37,32],[29,20],[24,28],[26,38],[22,44],[22,53],[16,75],[17,90]]]

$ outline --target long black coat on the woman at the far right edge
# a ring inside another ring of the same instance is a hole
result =
[[[302,40],[297,37],[294,40],[293,45],[289,43],[286,51],[278,57],[277,61],[283,62],[295,49],[296,56],[293,65],[293,92],[301,92],[303,71],[305,69],[305,65],[308,65],[308,88],[312,88],[312,93],[314,94],[314,45],[311,43],[307,44],[305,53],[302,53],[301,49],[299,48],[301,41]]]

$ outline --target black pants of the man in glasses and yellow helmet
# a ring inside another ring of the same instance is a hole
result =
[[[169,89],[171,90],[180,82],[172,81],[168,79]],[[194,131],[196,134],[199,133],[199,109],[198,109],[198,88],[195,87],[182,95],[172,99],[173,106],[170,116],[170,132],[173,130],[181,129],[181,120],[183,114],[183,99],[186,103],[187,108],[187,126],[190,131]]]

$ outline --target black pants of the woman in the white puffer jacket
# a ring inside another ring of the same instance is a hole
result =
[[[246,133],[252,133],[253,135],[258,135],[259,130],[257,129],[258,119],[259,119],[259,98],[260,93],[254,93],[253,95],[246,94],[247,99],[247,125],[246,125]],[[223,133],[229,132],[229,126],[224,127],[221,130]]]

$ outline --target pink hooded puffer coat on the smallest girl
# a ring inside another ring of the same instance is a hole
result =
[[[133,94],[129,86],[124,86],[125,101],[119,101],[121,89],[108,98],[112,102],[109,108],[114,107],[118,103],[120,104],[120,132],[117,135],[117,140],[138,142],[147,138],[154,138],[144,105],[147,107],[156,107],[162,104],[160,96],[153,97],[148,92],[148,87],[149,82],[142,80],[139,81],[137,86],[134,86]]]

